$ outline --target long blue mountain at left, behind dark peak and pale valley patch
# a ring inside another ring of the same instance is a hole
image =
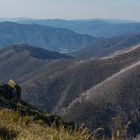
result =
[[[68,29],[11,22],[0,23],[0,36],[0,47],[25,43],[54,51],[71,51],[96,41]]]

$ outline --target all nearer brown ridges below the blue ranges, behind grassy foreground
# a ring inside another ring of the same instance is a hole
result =
[[[139,118],[139,54],[137,45],[109,57],[75,60],[13,45],[0,49],[0,77],[15,79],[23,100],[78,126],[107,128],[116,117],[127,125]]]

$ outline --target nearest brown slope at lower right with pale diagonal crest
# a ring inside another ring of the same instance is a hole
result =
[[[112,127],[119,117],[123,124],[140,119],[140,61],[122,69],[77,98],[64,113],[66,120],[85,123],[90,129]],[[137,130],[140,133],[140,122]]]

